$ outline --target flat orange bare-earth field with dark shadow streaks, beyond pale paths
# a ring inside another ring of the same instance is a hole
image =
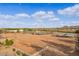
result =
[[[32,35],[26,33],[6,33],[2,34],[4,38],[12,39],[14,44],[12,47],[21,49],[30,55],[41,50],[45,46],[51,47],[54,55],[72,55],[75,50],[74,38],[56,37],[53,35]],[[56,51],[57,52],[56,52]]]

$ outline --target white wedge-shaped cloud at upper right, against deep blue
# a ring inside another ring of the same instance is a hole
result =
[[[58,10],[58,13],[62,15],[79,16],[79,4]]]

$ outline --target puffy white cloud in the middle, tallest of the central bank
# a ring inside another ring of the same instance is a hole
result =
[[[59,20],[59,18],[57,18],[54,14],[54,12],[52,11],[38,11],[35,12],[34,14],[32,14],[32,18],[36,19],[36,20],[48,20],[48,21],[55,21],[55,20]]]

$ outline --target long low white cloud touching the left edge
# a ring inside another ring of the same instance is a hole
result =
[[[26,13],[19,13],[15,15],[10,15],[10,14],[0,14],[0,20],[22,20],[22,19],[28,19],[30,16]]]

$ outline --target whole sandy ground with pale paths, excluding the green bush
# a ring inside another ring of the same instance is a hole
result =
[[[41,31],[40,31],[41,32]],[[0,41],[12,40],[10,47],[0,44],[0,55],[10,56],[69,56],[75,53],[75,37],[60,36],[57,33],[40,34],[36,31],[1,33]],[[50,32],[50,31],[49,31]],[[61,34],[61,33],[60,33]]]

